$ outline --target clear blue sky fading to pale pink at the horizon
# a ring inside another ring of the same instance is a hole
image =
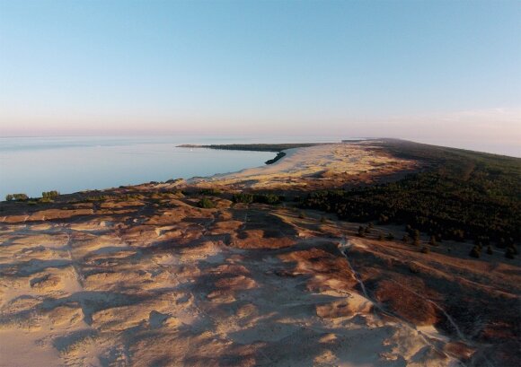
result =
[[[0,136],[389,136],[521,156],[520,19],[520,1],[0,0]]]

